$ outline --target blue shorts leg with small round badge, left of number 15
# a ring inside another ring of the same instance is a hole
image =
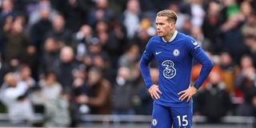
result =
[[[172,122],[170,109],[154,103],[151,128],[170,128]]]

